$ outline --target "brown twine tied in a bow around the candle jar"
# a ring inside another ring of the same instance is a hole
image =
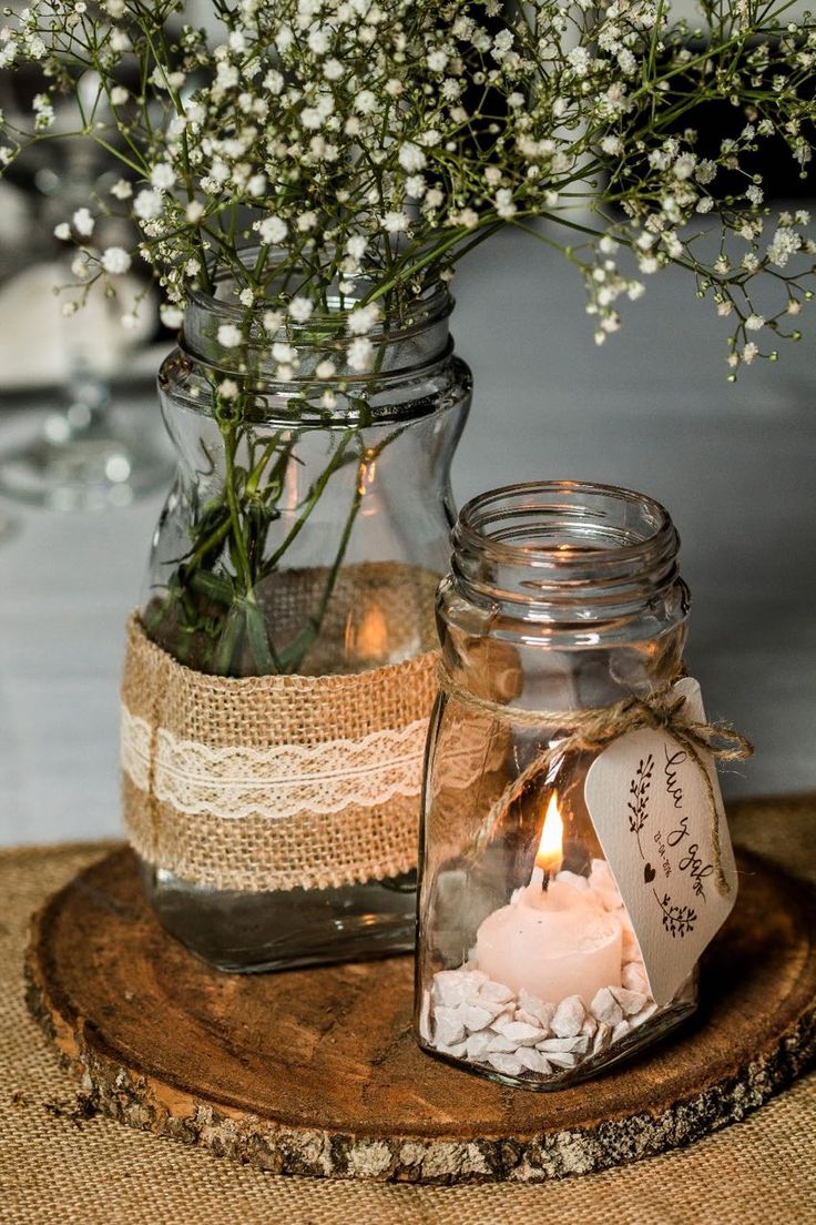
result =
[[[462,688],[444,665],[439,668],[439,686],[448,697],[482,710],[494,719],[527,728],[549,728],[558,734],[558,740],[544,748],[492,806],[477,845],[484,845],[499,817],[522,795],[529,783],[549,771],[554,761],[570,752],[602,752],[613,740],[646,728],[651,731],[667,733],[696,766],[708,799],[714,884],[721,894],[730,892],[722,864],[719,809],[701,755],[707,753],[717,762],[745,761],[752,755],[754,746],[728,723],[688,722],[683,717],[686,696],[678,693],[673,682],[661,685],[645,697],[632,693],[610,706],[584,710],[520,710],[504,706]]]

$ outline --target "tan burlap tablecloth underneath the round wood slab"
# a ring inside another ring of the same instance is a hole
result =
[[[741,840],[816,878],[816,795],[743,805],[735,818]],[[537,1187],[280,1177],[88,1117],[78,1085],[26,1012],[22,956],[31,913],[108,849],[0,853],[1,1225],[816,1223],[816,1074],[690,1149]]]

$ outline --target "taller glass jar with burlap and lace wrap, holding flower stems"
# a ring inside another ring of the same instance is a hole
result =
[[[125,813],[160,921],[225,970],[414,948],[471,376],[444,288],[382,312],[365,372],[346,364],[355,305],[269,337],[226,290],[195,294],[159,375],[179,468],[131,627]]]

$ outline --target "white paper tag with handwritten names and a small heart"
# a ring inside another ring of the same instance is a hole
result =
[[[684,677],[683,714],[703,723],[700,686]],[[700,751],[699,751],[700,752]],[[585,796],[646,965],[652,997],[668,1003],[736,900],[736,866],[711,755],[711,779],[728,893],[714,883],[711,800],[702,774],[667,731],[613,741],[586,777]]]

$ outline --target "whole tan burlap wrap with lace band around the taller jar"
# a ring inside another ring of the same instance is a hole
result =
[[[416,866],[437,653],[357,675],[207,676],[128,624],[125,822],[148,862],[219,889]]]

